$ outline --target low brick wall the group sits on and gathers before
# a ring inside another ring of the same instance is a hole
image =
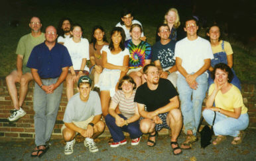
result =
[[[19,88],[19,84],[17,84]],[[52,133],[52,139],[61,139],[60,128],[62,127],[62,119],[65,112],[67,98],[66,98],[66,84],[64,82],[64,90],[62,92],[62,100],[58,111],[56,124]],[[19,140],[32,140],[34,139],[34,111],[32,109],[32,96],[33,96],[34,82],[29,83],[29,92],[23,104],[23,109],[27,115],[19,119],[15,123],[9,123],[7,117],[10,115],[10,110],[13,110],[11,97],[9,96],[5,78],[0,77],[0,141],[19,141]],[[245,106],[249,108],[250,123],[249,128],[256,128],[256,99],[255,99],[255,84],[244,83],[242,85],[243,101]],[[168,131],[164,130],[162,133],[167,134]],[[104,132],[103,136],[109,135]]]

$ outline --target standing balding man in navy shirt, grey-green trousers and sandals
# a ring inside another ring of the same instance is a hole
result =
[[[27,67],[31,68],[34,84],[34,129],[36,148],[32,157],[41,157],[47,150],[60,98],[62,82],[68,75],[72,61],[66,47],[56,43],[56,28],[48,26],[45,30],[45,42],[32,49]]]

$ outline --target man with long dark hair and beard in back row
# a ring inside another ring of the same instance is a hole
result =
[[[58,39],[59,44],[64,44],[66,38],[70,38],[70,28],[72,26],[72,20],[70,18],[62,18],[58,24]]]

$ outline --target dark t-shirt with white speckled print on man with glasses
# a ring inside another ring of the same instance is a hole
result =
[[[153,46],[152,54],[153,59],[152,61],[159,60],[162,69],[172,67],[175,65],[175,59],[174,59],[174,49],[175,49],[176,42],[170,41],[166,45],[162,45],[159,42],[156,42],[156,44]]]

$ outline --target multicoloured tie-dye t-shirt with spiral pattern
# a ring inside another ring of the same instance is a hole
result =
[[[125,48],[129,49],[129,69],[144,67],[145,59],[151,59],[151,45],[147,42],[141,41],[139,45],[133,44],[130,40],[125,42]]]

